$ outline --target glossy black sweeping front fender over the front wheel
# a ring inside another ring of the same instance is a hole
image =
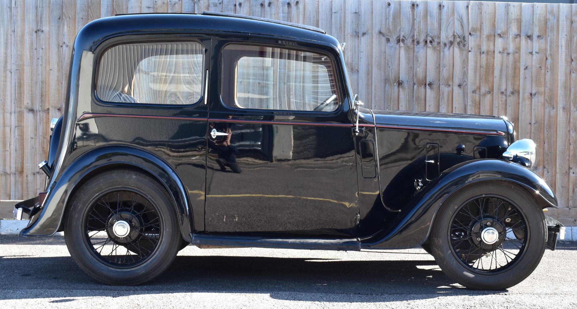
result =
[[[434,216],[445,199],[476,182],[517,184],[532,194],[542,208],[557,208],[553,190],[530,169],[496,159],[472,160],[441,173],[383,231],[363,239],[361,247],[376,249],[420,246],[429,237]]]

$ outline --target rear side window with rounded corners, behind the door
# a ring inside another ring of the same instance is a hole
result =
[[[197,103],[203,89],[203,55],[197,42],[111,47],[98,64],[96,96],[115,103]]]

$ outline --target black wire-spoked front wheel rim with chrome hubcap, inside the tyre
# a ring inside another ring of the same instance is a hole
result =
[[[452,253],[474,272],[503,272],[525,252],[527,221],[519,206],[504,197],[474,197],[452,217],[449,243]]]

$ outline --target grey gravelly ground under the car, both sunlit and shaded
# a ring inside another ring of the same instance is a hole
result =
[[[182,250],[160,277],[110,287],[82,272],[62,236],[0,236],[0,308],[575,308],[577,244],[545,251],[507,291],[469,291],[424,250]]]

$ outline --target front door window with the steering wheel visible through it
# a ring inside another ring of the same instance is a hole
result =
[[[229,44],[221,69],[228,107],[330,112],[339,106],[334,66],[325,55]]]

